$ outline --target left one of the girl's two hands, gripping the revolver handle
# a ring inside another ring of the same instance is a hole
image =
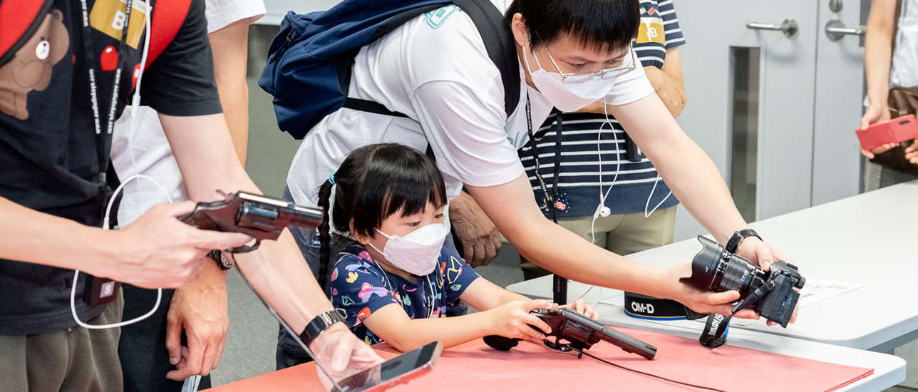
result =
[[[551,333],[552,329],[548,327],[542,319],[530,314],[534,308],[550,308],[551,304],[544,299],[535,299],[530,301],[510,301],[506,304],[488,310],[491,312],[491,333],[507,338],[525,339],[531,342],[542,342],[545,335],[533,330],[530,325],[545,333]]]

